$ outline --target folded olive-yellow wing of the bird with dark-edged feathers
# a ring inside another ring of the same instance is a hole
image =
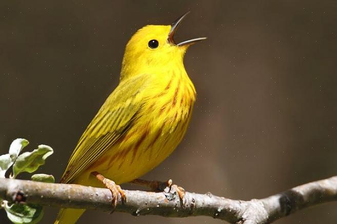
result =
[[[132,126],[144,103],[147,78],[147,75],[129,78],[110,94],[78,141],[62,183],[73,181]]]

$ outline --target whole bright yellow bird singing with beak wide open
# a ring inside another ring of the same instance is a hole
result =
[[[125,199],[119,184],[158,187],[158,181],[137,178],[167,158],[186,133],[196,93],[183,59],[190,45],[206,39],[175,43],[174,33],[186,14],[172,25],[148,25],[131,37],[120,84],[78,141],[61,183],[105,185],[114,205],[120,194]],[[177,189],[183,197],[183,188]],[[75,223],[84,211],[61,209],[55,223]]]

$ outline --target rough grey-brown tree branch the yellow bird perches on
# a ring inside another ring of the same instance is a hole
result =
[[[250,201],[232,200],[211,193],[186,192],[181,201],[174,188],[164,192],[125,190],[127,201],[117,200],[115,211],[166,217],[211,216],[231,223],[270,223],[300,209],[337,200],[337,176],[310,182],[279,194]],[[112,211],[108,189],[81,185],[46,184],[0,179],[0,197],[10,202],[43,206]]]

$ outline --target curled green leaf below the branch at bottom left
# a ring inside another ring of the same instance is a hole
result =
[[[43,207],[29,203],[18,203],[4,206],[7,217],[15,224],[34,224],[39,222],[43,217]]]

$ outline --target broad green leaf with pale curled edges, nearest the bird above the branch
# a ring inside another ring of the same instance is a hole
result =
[[[13,166],[14,177],[21,172],[34,172],[39,166],[45,164],[46,158],[51,154],[53,154],[51,147],[39,145],[38,148],[32,152],[25,152],[19,155]]]

